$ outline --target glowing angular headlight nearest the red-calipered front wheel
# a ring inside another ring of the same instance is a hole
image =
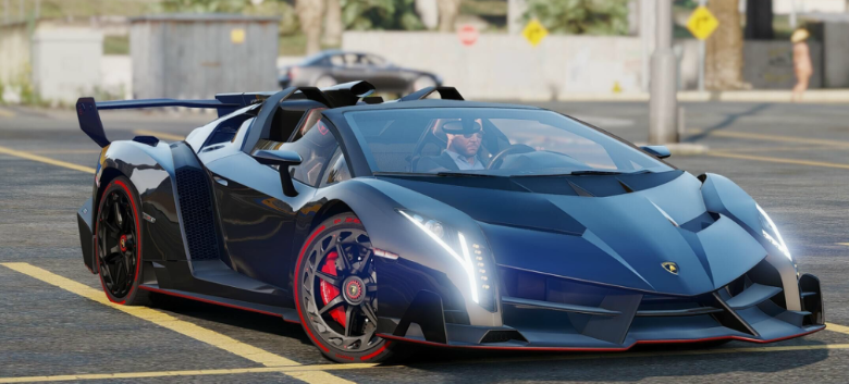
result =
[[[444,226],[441,222],[427,219],[418,213],[398,210],[403,216],[407,218],[413,224],[416,225],[421,232],[423,232],[433,241],[440,245],[463,269],[466,276],[469,280],[469,289],[471,293],[471,300],[476,304],[480,304],[478,296],[478,284],[476,278],[475,262],[472,261],[471,250],[466,241],[466,236],[459,231],[453,231]],[[485,270],[481,269],[481,271]],[[483,276],[482,280],[488,280]],[[489,285],[487,285],[489,288]]]

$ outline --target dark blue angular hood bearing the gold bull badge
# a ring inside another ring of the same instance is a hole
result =
[[[706,211],[699,179],[680,171],[669,174],[669,179],[660,182],[659,176],[647,175],[655,179],[648,184],[641,184],[639,175],[627,185],[622,177],[611,176],[570,179],[569,190],[585,196],[528,193],[526,185],[519,191],[506,184],[481,188],[465,182],[460,186],[387,181],[478,221],[496,263],[505,268],[645,292],[699,295],[728,284],[766,256],[734,220]],[[623,184],[615,194],[601,194],[610,188],[593,186],[614,182]],[[586,196],[587,191],[595,193]],[[664,269],[665,262],[676,263],[678,273]]]

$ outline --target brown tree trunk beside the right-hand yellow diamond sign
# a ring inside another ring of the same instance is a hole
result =
[[[745,89],[742,80],[742,28],[738,0],[711,0],[707,9],[719,27],[705,41],[704,86],[709,89]]]

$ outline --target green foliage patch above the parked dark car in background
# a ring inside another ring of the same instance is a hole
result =
[[[416,0],[340,0],[345,29],[423,29]]]

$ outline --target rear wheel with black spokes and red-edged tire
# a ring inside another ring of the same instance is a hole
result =
[[[139,289],[142,275],[142,210],[138,194],[124,176],[103,189],[95,221],[95,261],[100,285],[110,301],[148,305],[149,292]]]

